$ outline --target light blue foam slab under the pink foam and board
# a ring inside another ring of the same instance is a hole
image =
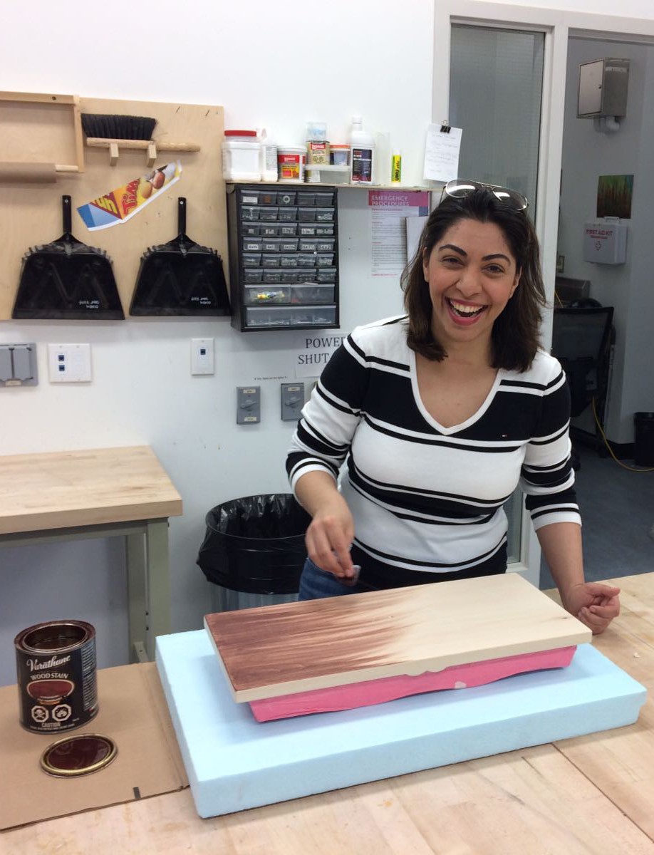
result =
[[[256,722],[204,630],[160,635],[156,663],[200,817],[632,724],[646,691],[592,645],[566,669]]]

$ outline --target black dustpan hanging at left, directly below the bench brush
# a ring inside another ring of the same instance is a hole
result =
[[[125,318],[107,253],[71,234],[70,197],[62,196],[63,234],[23,257],[14,318],[121,321]]]

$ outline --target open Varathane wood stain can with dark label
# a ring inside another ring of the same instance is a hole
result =
[[[96,631],[90,623],[37,623],[16,635],[14,646],[26,730],[58,734],[95,718]]]

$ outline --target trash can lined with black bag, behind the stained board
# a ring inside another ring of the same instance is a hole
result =
[[[292,493],[244,496],[209,510],[197,564],[213,583],[214,611],[292,602],[311,517]]]

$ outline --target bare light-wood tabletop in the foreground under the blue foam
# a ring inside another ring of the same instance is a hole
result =
[[[654,573],[612,580],[622,615],[595,641],[654,688]],[[554,595],[552,595],[554,596]],[[654,701],[639,721],[227,817],[188,789],[16,828],[7,855],[591,855],[654,852]]]

